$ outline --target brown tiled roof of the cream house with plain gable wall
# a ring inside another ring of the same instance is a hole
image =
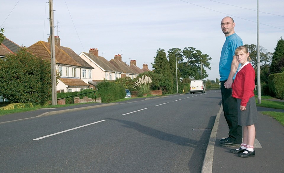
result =
[[[118,72],[119,69],[114,67],[111,63],[109,63],[104,57],[100,56],[97,57],[94,54],[83,52],[86,56],[88,56],[93,62],[98,64],[102,69],[108,72]]]

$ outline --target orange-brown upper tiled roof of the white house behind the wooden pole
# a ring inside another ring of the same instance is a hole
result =
[[[37,43],[28,47],[31,53],[41,57],[42,59],[51,60],[50,43],[38,41]],[[55,62],[57,64],[72,65],[82,67],[81,64],[72,59],[66,52],[55,46]]]

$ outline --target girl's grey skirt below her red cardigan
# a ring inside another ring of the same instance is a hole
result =
[[[257,122],[257,110],[255,98],[251,97],[249,102],[246,104],[246,110],[241,111],[241,99],[237,98],[238,102],[238,125],[240,126],[249,126]]]

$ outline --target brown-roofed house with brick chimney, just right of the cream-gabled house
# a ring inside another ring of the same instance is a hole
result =
[[[120,54],[114,55],[114,59],[111,59],[109,62],[123,72],[121,77],[131,77],[131,79],[133,79],[139,75],[139,73],[131,69],[128,64],[122,62],[122,56]]]

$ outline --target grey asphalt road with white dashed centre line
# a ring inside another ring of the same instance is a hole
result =
[[[200,173],[220,90],[0,125],[0,172]]]

